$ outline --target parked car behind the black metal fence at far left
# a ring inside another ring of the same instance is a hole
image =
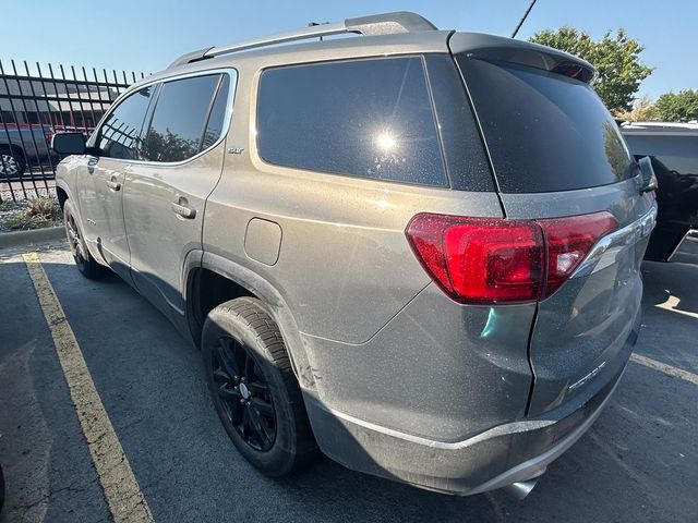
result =
[[[52,135],[49,125],[0,123],[0,182],[20,178],[27,166],[58,162],[49,148]]]

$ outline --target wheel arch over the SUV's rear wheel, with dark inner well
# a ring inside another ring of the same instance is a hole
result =
[[[216,305],[234,297],[256,297],[279,327],[288,350],[293,374],[301,388],[315,389],[315,380],[298,325],[279,291],[256,272],[217,254],[202,253],[201,263],[192,262],[190,257],[190,263],[185,267],[184,289],[186,317],[194,343],[197,346],[201,344],[201,330],[205,314],[207,314],[206,309],[209,311]],[[215,293],[214,295],[219,296],[218,300],[206,301],[206,291],[210,289],[207,285],[207,281],[208,283],[224,285],[226,285],[225,282],[229,282],[227,283],[229,287],[224,289],[224,292],[216,291],[217,294]]]

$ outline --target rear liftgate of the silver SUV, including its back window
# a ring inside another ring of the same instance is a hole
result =
[[[587,64],[561,62],[538,47],[476,49],[457,54],[457,62],[506,217],[565,218],[567,236],[561,241],[568,244],[587,221],[617,222],[586,264],[574,253],[554,259],[549,245],[549,275],[582,265],[538,305],[529,345],[534,374],[529,414],[537,415],[577,394],[590,397],[624,368],[639,321],[640,262],[653,227],[654,196],[641,193],[639,169],[617,125],[579,80],[590,76]]]

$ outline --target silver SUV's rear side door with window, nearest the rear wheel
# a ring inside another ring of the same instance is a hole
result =
[[[222,169],[234,71],[164,82],[144,132],[143,161],[125,175],[124,217],[139,290],[177,321],[182,267],[202,245],[206,198]]]

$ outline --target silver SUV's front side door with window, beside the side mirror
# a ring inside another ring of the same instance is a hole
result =
[[[89,145],[99,156],[82,158],[79,202],[86,241],[122,278],[129,280],[130,252],[123,223],[124,173],[139,159],[143,121],[155,88],[125,97],[107,115]]]

